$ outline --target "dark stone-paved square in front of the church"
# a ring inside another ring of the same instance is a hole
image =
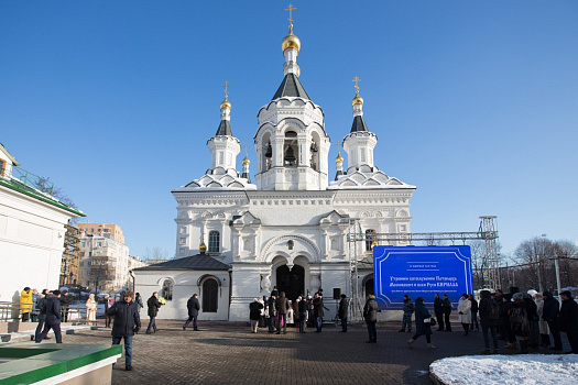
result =
[[[412,334],[397,332],[401,322],[379,324],[378,343],[364,343],[364,324],[350,326],[347,333],[340,327],[321,333],[308,329],[305,334],[288,328],[277,336],[264,329],[251,333],[248,323],[199,321],[200,331],[183,331],[183,323],[157,320],[157,333],[137,334],[134,370],[126,372],[120,359],[112,384],[432,384],[433,361],[483,349],[481,331],[464,337],[457,323],[452,332],[434,331],[435,350],[426,349],[425,337],[408,349],[405,341]],[[146,324],[143,319],[143,329]],[[80,330],[63,340],[109,343],[110,329]]]

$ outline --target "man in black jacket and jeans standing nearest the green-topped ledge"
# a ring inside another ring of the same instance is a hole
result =
[[[112,322],[112,344],[120,344],[124,339],[124,363],[126,370],[132,371],[132,337],[141,329],[141,317],[139,307],[132,301],[132,292],[127,290],[122,294],[122,300],[112,305],[107,314],[114,317]]]

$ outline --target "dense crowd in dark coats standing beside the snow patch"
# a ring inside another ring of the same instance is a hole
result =
[[[560,332],[565,332],[570,344],[567,353],[578,353],[578,304],[570,292],[560,293],[560,302],[550,292],[543,294],[530,293],[504,294],[501,289],[494,293],[480,292],[478,301],[473,295],[464,294],[457,304],[458,322],[464,329],[464,336],[470,331],[483,334],[483,354],[499,353],[499,340],[508,343],[504,349],[519,350],[528,353],[528,349],[549,348],[561,351]],[[368,298],[368,302],[371,298]],[[368,306],[368,305],[366,305]],[[415,312],[416,334],[407,341],[413,346],[414,341],[426,336],[427,346],[436,348],[430,342],[432,326],[437,323],[437,331],[451,331],[450,315],[454,306],[447,295],[434,295],[434,315],[437,322],[424,306],[424,298],[417,297],[415,306],[410,296],[404,296],[403,318],[400,332],[412,331],[412,315]],[[369,320],[368,329],[369,329]],[[373,331],[369,331],[370,339]],[[490,336],[492,348],[490,350]],[[550,339],[552,336],[552,339]]]

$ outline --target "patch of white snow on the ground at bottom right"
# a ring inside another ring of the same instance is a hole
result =
[[[578,354],[448,358],[432,363],[429,372],[444,384],[578,384]]]

